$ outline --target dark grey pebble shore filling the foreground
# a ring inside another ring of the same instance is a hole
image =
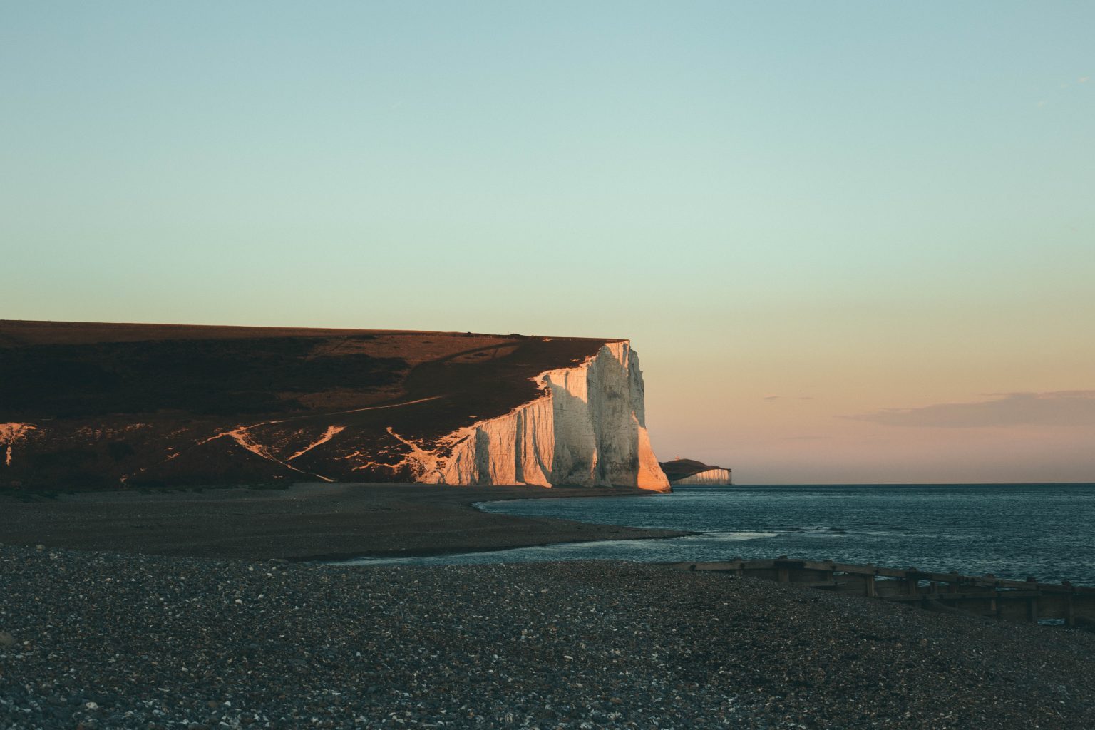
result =
[[[0,728],[1090,728],[1095,636],[570,563],[0,547]]]

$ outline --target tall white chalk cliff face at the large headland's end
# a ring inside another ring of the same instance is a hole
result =
[[[540,373],[542,395],[498,418],[412,447],[417,482],[629,486],[669,491],[646,432],[643,372],[627,340],[580,364]]]

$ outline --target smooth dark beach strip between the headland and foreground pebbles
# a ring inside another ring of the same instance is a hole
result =
[[[0,493],[0,542],[150,555],[316,559],[437,555],[687,533],[487,514],[489,499],[635,495],[637,489],[301,484],[286,489]]]

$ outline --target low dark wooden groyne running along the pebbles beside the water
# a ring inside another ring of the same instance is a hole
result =
[[[831,560],[733,559],[722,563],[672,563],[681,570],[763,578],[809,588],[865,595],[947,613],[1004,621],[1052,622],[1095,629],[1095,588],[1042,583],[1034,578],[1005,580],[992,575],[963,576],[917,568],[881,568]]]

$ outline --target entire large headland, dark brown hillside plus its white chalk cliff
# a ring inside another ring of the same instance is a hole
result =
[[[0,487],[669,490],[627,340],[0,321]]]

